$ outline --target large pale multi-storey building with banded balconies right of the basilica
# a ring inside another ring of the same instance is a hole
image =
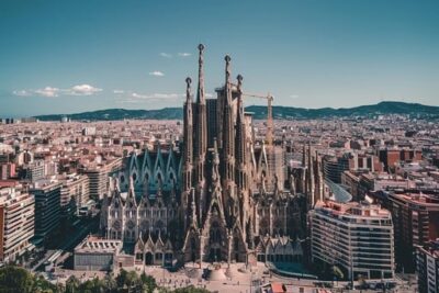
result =
[[[393,278],[391,213],[369,203],[318,202],[308,213],[313,262],[338,266],[349,279]]]

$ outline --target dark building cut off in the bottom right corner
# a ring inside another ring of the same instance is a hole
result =
[[[439,239],[416,249],[419,293],[439,292]]]

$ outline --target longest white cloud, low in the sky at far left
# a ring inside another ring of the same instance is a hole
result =
[[[36,90],[14,90],[13,94],[20,97],[40,95],[45,98],[55,98],[58,95],[92,95],[100,91],[102,91],[102,89],[94,88],[90,84],[78,84],[68,89],[45,87]]]

